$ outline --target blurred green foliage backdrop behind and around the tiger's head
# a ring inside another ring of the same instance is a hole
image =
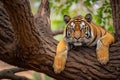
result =
[[[82,8],[86,8],[87,10],[81,9],[81,7],[72,9],[75,5],[82,5]],[[96,8],[96,5],[98,8]],[[54,19],[51,19],[52,30],[64,29],[65,24],[63,22],[63,15],[67,14],[72,17],[76,15],[85,15],[89,12],[88,9],[91,9],[92,12],[89,13],[93,15],[93,22],[113,32],[112,10],[109,0],[103,2],[99,0],[50,0],[50,7],[52,11],[51,16],[56,16]]]

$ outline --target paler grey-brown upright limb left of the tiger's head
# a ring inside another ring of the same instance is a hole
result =
[[[41,31],[44,36],[52,36],[52,31],[50,29],[50,8],[48,0],[41,0],[39,9],[35,15],[35,23],[39,31]],[[49,35],[47,35],[49,34]]]

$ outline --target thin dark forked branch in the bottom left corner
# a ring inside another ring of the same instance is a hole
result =
[[[11,68],[11,69],[5,69],[3,71],[0,71],[0,79],[12,79],[12,80],[30,80],[23,76],[17,76],[15,73],[26,71],[26,69],[22,68]]]

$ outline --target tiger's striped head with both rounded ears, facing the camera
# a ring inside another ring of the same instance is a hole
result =
[[[66,23],[64,37],[68,43],[81,46],[90,42],[92,37],[90,28],[91,14],[87,14],[85,17],[77,16],[74,18],[64,15],[64,21]]]

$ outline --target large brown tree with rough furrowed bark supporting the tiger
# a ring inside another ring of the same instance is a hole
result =
[[[111,0],[114,10],[116,4],[120,5],[115,1],[119,0]],[[114,10],[113,16],[117,14]],[[69,52],[65,70],[55,74],[52,66],[57,41],[50,31],[49,14],[48,0],[42,0],[35,16],[31,13],[29,0],[0,0],[0,60],[43,72],[58,80],[120,79],[119,41],[110,48],[108,64],[101,65],[97,61],[95,47],[78,47]],[[113,19],[119,23],[120,15]],[[115,30],[119,37],[119,25]]]

